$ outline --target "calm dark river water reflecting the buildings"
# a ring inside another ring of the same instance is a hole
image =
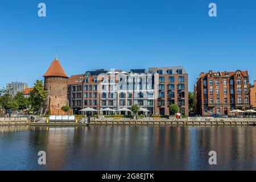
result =
[[[0,170],[46,169],[256,170],[256,127],[0,126]]]

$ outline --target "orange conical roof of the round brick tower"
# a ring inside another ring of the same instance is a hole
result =
[[[67,77],[66,73],[64,72],[63,68],[60,65],[60,61],[55,59],[52,61],[52,64],[48,68],[47,72],[43,75],[46,76],[60,76],[60,77]]]

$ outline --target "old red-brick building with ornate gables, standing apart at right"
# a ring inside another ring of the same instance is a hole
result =
[[[250,107],[247,71],[201,73],[195,90],[196,112],[203,116]]]

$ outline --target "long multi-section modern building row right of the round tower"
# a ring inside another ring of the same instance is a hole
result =
[[[68,100],[75,114],[85,107],[118,110],[137,104],[149,114],[169,115],[172,103],[188,114],[188,74],[183,67],[88,71],[69,78]]]

